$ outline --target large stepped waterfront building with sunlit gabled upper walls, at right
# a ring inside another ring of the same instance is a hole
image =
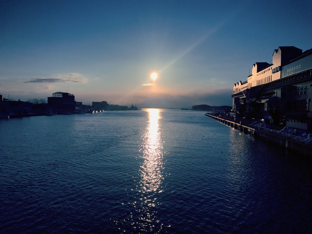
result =
[[[272,63],[256,62],[252,74],[233,86],[233,111],[300,129],[312,129],[312,49],[274,50]]]

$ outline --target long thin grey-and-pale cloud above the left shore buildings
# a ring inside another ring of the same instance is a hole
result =
[[[87,79],[79,73],[55,74],[51,78],[35,78],[24,83],[86,83]]]

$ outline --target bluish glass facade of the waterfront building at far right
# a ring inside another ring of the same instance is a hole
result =
[[[281,78],[312,68],[312,54],[282,67]]]

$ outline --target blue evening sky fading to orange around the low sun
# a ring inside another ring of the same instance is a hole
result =
[[[232,105],[274,49],[312,48],[312,1],[1,1],[0,93],[141,107]],[[150,78],[152,72],[158,78]]]

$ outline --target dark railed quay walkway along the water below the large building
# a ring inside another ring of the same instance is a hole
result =
[[[230,121],[228,119],[222,119],[220,117],[210,115],[205,113],[206,116],[215,119],[223,124],[231,126],[239,131],[243,131],[244,133],[251,134],[255,137],[259,137],[261,139],[270,141],[274,144],[278,144],[279,146],[285,147],[291,151],[294,151],[298,154],[312,156],[312,141],[294,136],[291,134],[282,133],[279,131],[275,131],[272,129],[267,129],[263,127],[257,127],[256,129],[251,128],[249,126],[241,124],[241,122],[237,123],[235,121]]]

